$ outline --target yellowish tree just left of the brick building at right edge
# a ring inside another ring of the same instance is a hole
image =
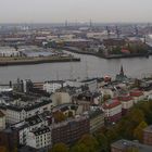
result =
[[[141,122],[134,130],[134,137],[142,142],[143,129],[148,127],[145,122]]]

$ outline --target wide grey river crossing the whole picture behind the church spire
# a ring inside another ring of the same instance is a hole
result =
[[[31,79],[34,81],[54,79],[84,79],[86,77],[115,77],[121,65],[129,77],[143,77],[152,74],[152,56],[104,60],[92,55],[75,54],[80,62],[43,63],[37,65],[17,65],[0,67],[0,84],[9,80]]]

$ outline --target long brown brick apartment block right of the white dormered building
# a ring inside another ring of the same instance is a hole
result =
[[[64,142],[72,144],[85,134],[89,134],[89,118],[79,116],[60,124],[52,124],[52,144]]]

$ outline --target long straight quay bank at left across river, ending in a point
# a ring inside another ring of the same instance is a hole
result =
[[[0,58],[0,66],[26,65],[54,62],[79,62],[80,59],[74,56],[38,56],[38,58]]]

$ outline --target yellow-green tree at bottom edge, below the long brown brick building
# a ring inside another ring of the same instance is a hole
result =
[[[64,143],[56,143],[53,145],[51,152],[68,152],[68,148]]]

